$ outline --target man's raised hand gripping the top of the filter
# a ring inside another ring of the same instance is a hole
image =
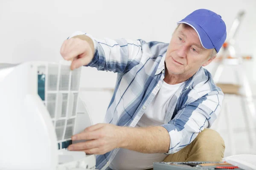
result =
[[[61,56],[72,61],[71,70],[87,65],[94,56],[93,40],[86,35],[77,35],[65,40],[61,45]]]

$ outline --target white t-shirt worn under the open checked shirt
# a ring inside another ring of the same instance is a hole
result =
[[[169,85],[163,81],[136,127],[163,125],[169,101],[184,83]],[[113,170],[145,170],[152,168],[153,162],[163,161],[166,156],[164,153],[140,153],[120,148],[109,167]]]

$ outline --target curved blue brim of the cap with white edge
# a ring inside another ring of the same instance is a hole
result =
[[[177,24],[184,23],[189,26],[191,26],[198,34],[198,37],[200,39],[201,45],[206,48],[206,49],[211,49],[215,48],[214,45],[212,44],[212,41],[210,40],[209,36],[206,34],[206,32],[198,26],[198,24],[195,24],[191,21],[188,20],[182,20],[180,22],[177,22]]]

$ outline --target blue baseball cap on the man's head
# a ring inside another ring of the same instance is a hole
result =
[[[206,49],[215,48],[219,52],[227,38],[226,25],[221,16],[208,9],[195,10],[177,22],[180,23],[194,28],[202,46]]]

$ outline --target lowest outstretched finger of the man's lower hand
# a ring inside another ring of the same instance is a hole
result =
[[[71,144],[67,148],[68,150],[88,150],[96,147],[100,147],[100,140],[89,140],[86,142],[79,142],[76,144]]]

